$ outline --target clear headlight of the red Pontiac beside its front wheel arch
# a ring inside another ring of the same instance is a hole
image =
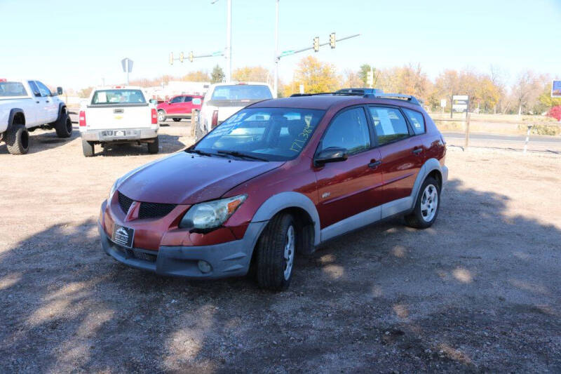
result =
[[[241,206],[247,195],[198,203],[183,216],[182,229],[213,229],[222,225]]]

